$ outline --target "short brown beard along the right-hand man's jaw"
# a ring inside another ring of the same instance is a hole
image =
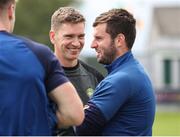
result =
[[[111,41],[108,48],[103,49],[103,50],[104,50],[104,54],[102,55],[101,58],[98,59],[98,62],[104,65],[109,65],[116,58],[117,49],[114,44],[114,41]]]

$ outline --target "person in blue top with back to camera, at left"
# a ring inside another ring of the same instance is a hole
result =
[[[15,8],[0,0],[0,135],[46,136],[81,124],[83,104],[51,50],[12,34]]]

